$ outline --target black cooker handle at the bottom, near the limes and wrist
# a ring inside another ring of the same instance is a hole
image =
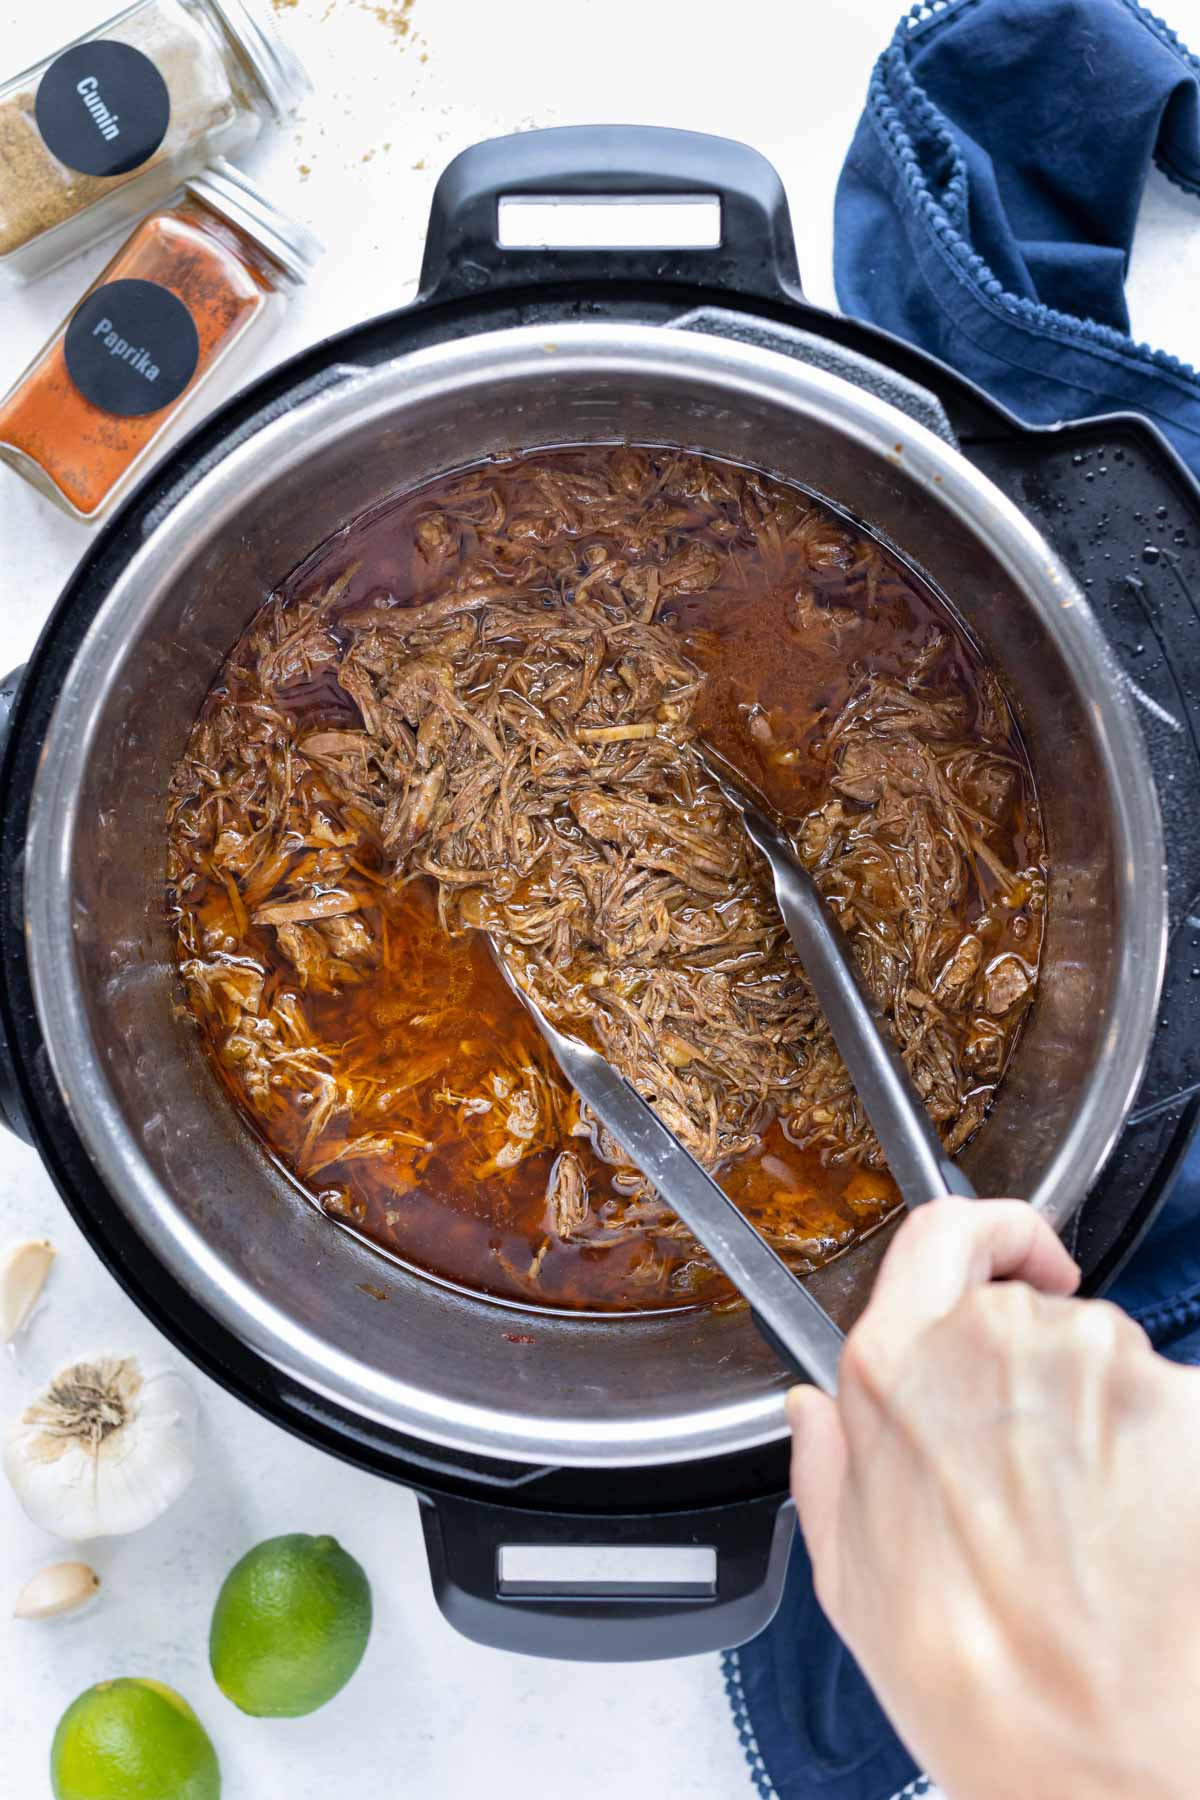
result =
[[[421,1525],[444,1618],[475,1643],[570,1661],[651,1661],[745,1643],[770,1624],[788,1566],[790,1501],[752,1499],[676,1514],[547,1514],[421,1496]],[[504,1552],[711,1552],[689,1580],[509,1579]]]

